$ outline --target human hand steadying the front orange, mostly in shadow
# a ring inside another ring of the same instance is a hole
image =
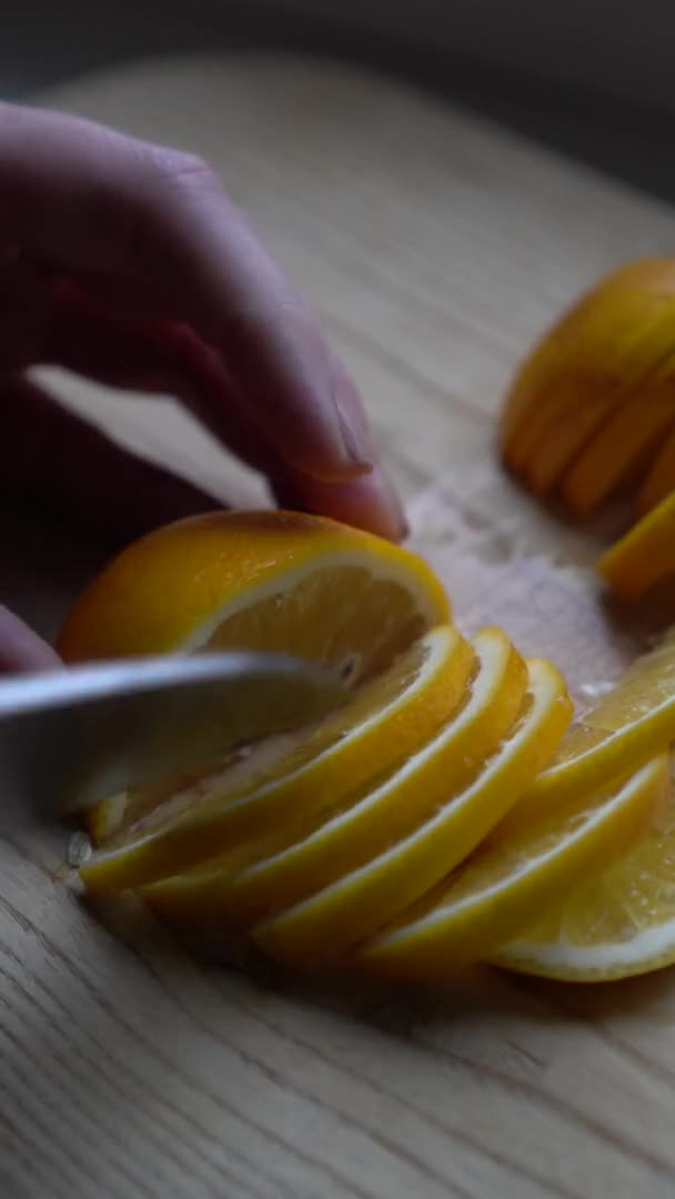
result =
[[[354,384],[210,168],[0,104],[0,486],[123,536],[216,505],[66,411],[38,364],[169,392],[285,507],[405,532]],[[0,670],[55,662],[0,608]]]

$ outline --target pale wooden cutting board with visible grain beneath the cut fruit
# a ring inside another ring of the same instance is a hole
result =
[[[210,158],[356,375],[463,627],[499,620],[581,699],[616,671],[637,640],[595,588],[596,535],[501,477],[494,417],[562,305],[673,248],[671,212],[326,62],[139,64],[41,101]],[[170,399],[52,381],[123,442],[264,502]],[[47,517],[5,512],[1,531],[2,598],[53,631],[97,554]],[[64,857],[0,845],[6,1199],[673,1195],[670,974],[308,993],[194,964],[149,917],[85,910]]]

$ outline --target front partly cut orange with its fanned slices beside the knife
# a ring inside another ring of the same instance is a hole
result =
[[[587,980],[675,960],[675,640],[569,728],[556,668],[499,628],[465,640],[421,559],[293,513],[151,534],[61,638],[70,662],[209,646],[339,665],[351,698],[100,805],[90,891],[311,971],[495,959]]]

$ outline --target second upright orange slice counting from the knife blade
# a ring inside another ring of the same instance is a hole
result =
[[[146,892],[163,915],[251,923],[282,911],[342,874],[384,854],[392,842],[447,803],[498,748],[520,711],[528,673],[508,638],[496,628],[474,640],[478,670],[460,710],[388,777],[329,809],[325,821],[305,839],[233,874],[222,863],[210,872],[170,879]],[[486,799],[487,796],[487,799]],[[486,811],[483,805],[490,805]],[[460,846],[492,818],[489,795],[448,812],[444,837]],[[454,820],[454,824],[453,824]]]

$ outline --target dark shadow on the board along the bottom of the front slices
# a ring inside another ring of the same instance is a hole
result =
[[[427,1044],[434,1030],[474,1025],[489,1018],[506,1036],[518,1029],[547,1024],[644,1022],[671,1024],[675,1016],[673,969],[611,983],[574,984],[511,974],[487,965],[463,970],[446,983],[410,986],[356,976],[303,977],[249,951],[233,950],[237,960],[213,952],[195,954],[138,899],[94,899],[84,905],[101,929],[109,933],[147,969],[164,978],[181,972],[199,975],[224,999],[247,993],[259,1007],[291,1002],[296,1008],[326,1012],[343,1022],[358,1022],[394,1041]],[[187,984],[187,978],[185,980]],[[452,1054],[450,1055],[452,1056]],[[454,1054],[460,1060],[462,1054]],[[496,1068],[496,1067],[495,1067]]]

